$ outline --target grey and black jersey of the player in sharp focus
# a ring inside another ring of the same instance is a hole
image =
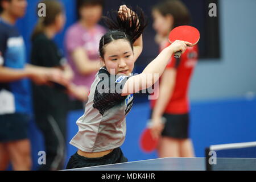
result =
[[[70,144],[85,152],[106,151],[122,145],[126,135],[125,117],[133,106],[133,94],[121,96],[128,78],[110,75],[105,67],[98,71],[85,113],[76,122],[79,131]]]

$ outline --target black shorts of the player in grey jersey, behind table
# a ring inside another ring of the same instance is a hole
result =
[[[76,152],[69,159],[67,169],[125,163],[127,161],[120,147],[115,148],[112,152],[100,158],[85,158]]]

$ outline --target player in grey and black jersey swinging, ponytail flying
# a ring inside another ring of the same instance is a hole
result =
[[[69,159],[68,169],[127,162],[119,148],[125,140],[125,117],[133,105],[133,93],[146,87],[140,83],[139,88],[131,89],[129,85],[147,74],[161,75],[172,53],[184,52],[189,44],[177,40],[151,61],[141,74],[129,76],[142,52],[142,32],[146,27],[144,14],[141,10],[135,14],[123,5],[116,17],[106,18],[106,24],[110,31],[102,36],[99,47],[104,67],[98,71],[90,88],[85,114],[76,122],[79,131],[70,143],[78,150]],[[148,79],[146,84],[152,81],[156,80]],[[101,92],[101,88],[108,93]]]

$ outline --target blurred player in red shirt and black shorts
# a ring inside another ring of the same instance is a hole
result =
[[[160,51],[168,47],[168,34],[177,26],[188,24],[190,16],[180,1],[163,1],[152,9],[153,27]],[[160,158],[192,157],[193,146],[189,139],[188,88],[197,62],[197,46],[188,47],[179,59],[171,57],[160,78],[158,100],[151,100],[152,134],[159,138]],[[166,118],[165,125],[161,118]]]

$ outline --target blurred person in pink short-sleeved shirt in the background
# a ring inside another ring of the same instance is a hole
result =
[[[105,34],[105,28],[98,22],[102,16],[103,0],[77,0],[79,19],[68,28],[65,35],[65,49],[68,63],[74,72],[72,82],[90,89],[94,76],[100,69],[98,43]],[[73,109],[84,109],[80,101],[73,101]]]

